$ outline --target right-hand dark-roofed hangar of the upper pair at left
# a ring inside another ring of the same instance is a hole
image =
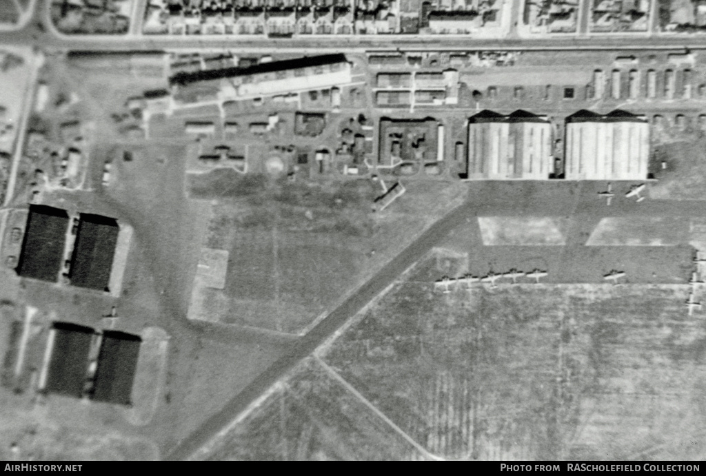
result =
[[[113,218],[80,215],[69,273],[73,286],[107,291],[118,233]]]

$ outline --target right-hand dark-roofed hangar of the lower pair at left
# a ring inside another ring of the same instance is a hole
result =
[[[140,336],[104,331],[95,372],[93,399],[130,405],[140,354]]]

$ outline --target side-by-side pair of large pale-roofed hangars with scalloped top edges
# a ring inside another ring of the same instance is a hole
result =
[[[566,118],[563,164],[554,126],[526,111],[482,111],[469,120],[462,178],[489,180],[645,180],[650,124],[624,111],[578,111]]]

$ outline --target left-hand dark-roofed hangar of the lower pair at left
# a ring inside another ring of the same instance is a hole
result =
[[[80,398],[88,376],[88,354],[95,331],[69,322],[54,322],[47,384],[50,393]]]

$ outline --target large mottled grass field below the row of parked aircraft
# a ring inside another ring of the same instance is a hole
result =
[[[706,420],[706,327],[686,315],[687,286],[447,296],[418,276],[369,310],[325,361],[431,453],[652,458],[645,451],[660,445],[660,458],[699,453],[674,444],[701,441]]]

